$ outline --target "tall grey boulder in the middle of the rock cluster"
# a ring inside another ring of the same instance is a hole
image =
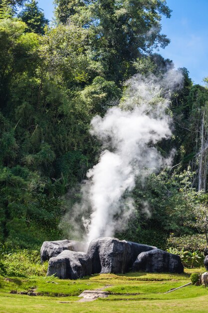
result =
[[[132,260],[127,241],[100,237],[90,242],[87,254],[92,260],[92,273],[125,273]]]

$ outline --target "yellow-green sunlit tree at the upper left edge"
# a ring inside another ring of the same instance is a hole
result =
[[[14,77],[33,71],[39,44],[37,34],[26,33],[26,24],[16,19],[0,19],[0,107],[8,110],[9,89]]]

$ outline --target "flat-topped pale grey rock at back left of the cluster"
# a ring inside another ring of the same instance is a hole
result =
[[[40,249],[40,260],[44,262],[51,257],[57,256],[63,250],[84,251],[85,245],[74,240],[44,241]]]

